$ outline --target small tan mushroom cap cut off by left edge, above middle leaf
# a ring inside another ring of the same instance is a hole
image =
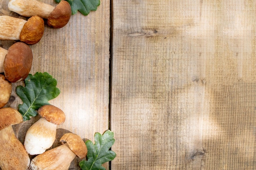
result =
[[[11,97],[11,83],[0,74],[0,108],[2,108]]]

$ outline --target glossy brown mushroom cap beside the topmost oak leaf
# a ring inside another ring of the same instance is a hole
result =
[[[53,28],[62,28],[65,26],[72,15],[70,4],[61,0],[61,2],[49,14],[47,24]]]

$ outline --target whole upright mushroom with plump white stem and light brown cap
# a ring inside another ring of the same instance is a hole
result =
[[[56,139],[56,127],[65,121],[65,113],[56,106],[45,105],[38,109],[41,118],[28,130],[24,146],[30,155],[38,155],[50,148]]]

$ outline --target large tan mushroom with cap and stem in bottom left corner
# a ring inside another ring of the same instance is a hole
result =
[[[13,108],[0,109],[0,167],[2,170],[27,170],[30,159],[16,138],[12,125],[22,122],[22,115]]]

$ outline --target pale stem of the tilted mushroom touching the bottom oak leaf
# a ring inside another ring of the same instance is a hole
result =
[[[65,143],[36,156],[31,160],[29,170],[68,170],[75,157]]]

